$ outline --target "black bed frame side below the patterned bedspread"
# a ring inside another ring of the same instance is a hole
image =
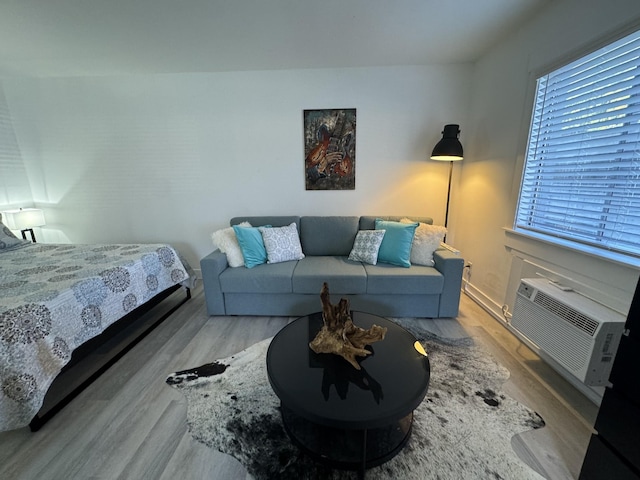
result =
[[[186,290],[186,296],[179,290]],[[76,348],[47,391],[42,408],[31,420],[31,431],[39,430],[190,298],[189,288],[174,285]]]

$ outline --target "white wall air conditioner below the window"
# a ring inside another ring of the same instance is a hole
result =
[[[541,357],[585,385],[607,385],[624,323],[618,312],[545,278],[520,280],[511,319]]]

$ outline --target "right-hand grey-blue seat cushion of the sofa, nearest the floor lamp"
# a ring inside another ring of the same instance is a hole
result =
[[[378,263],[364,265],[367,272],[367,293],[370,294],[440,294],[444,277],[433,267],[412,265],[399,268]]]

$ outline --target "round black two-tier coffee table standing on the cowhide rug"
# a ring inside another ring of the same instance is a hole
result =
[[[322,314],[315,313],[273,338],[267,373],[292,441],[316,460],[364,474],[407,443],[413,410],[429,387],[430,365],[415,337],[399,325],[362,312],[351,312],[351,318],[364,329],[387,327],[385,339],[360,359],[362,370],[309,348],[322,327]]]

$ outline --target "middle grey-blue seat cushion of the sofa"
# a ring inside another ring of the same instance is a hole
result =
[[[366,293],[367,274],[359,262],[340,256],[306,256],[298,260],[293,272],[294,293],[320,295],[322,283],[327,282],[336,294]],[[318,308],[320,297],[318,296]]]

